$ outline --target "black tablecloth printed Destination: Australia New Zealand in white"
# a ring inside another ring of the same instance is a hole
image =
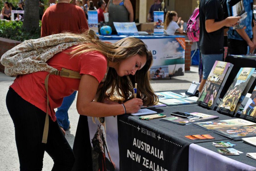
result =
[[[189,113],[200,112],[219,116],[219,118],[216,120],[232,119],[230,116],[219,114],[214,110],[208,110],[196,104],[153,108],[152,110],[157,111],[158,113],[166,114],[166,117],[171,116],[170,112],[179,111]],[[188,170],[188,151],[191,143],[199,143],[199,145],[204,145],[202,142],[211,144],[213,141],[216,142],[226,140],[226,138],[214,134],[212,131],[206,131],[199,127],[195,127],[194,125],[178,125],[160,121],[160,119],[145,121],[140,120],[139,116],[131,116],[128,114],[118,116],[117,123],[120,170],[154,170],[157,168],[157,166],[166,170]],[[189,140],[184,137],[185,135],[194,134],[210,134],[215,139]],[[144,146],[149,146],[149,152],[141,147],[138,147],[138,142],[143,142],[142,144]],[[163,158],[161,158],[159,155],[155,155],[154,152],[151,153],[152,147],[153,151],[155,151],[156,148],[157,153],[158,150],[160,152],[163,151]],[[206,148],[207,147],[208,146],[206,146]],[[210,146],[210,148],[212,147]],[[239,148],[239,146],[237,147]],[[241,151],[243,152],[243,150]],[[135,156],[137,156],[137,161]],[[236,158],[236,160],[249,165],[251,165],[251,163],[254,161],[249,157],[245,158],[241,156],[240,158]],[[146,164],[147,161],[148,164]],[[150,161],[152,163],[152,167],[150,167]]]

